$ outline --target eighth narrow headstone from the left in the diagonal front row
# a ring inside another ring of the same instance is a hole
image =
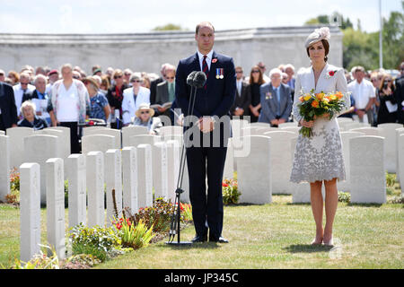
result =
[[[168,198],[167,144],[153,145],[153,186],[154,196]]]

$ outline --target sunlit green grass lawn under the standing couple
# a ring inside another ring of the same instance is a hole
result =
[[[176,248],[166,239],[96,268],[403,268],[403,204],[338,204],[336,247],[312,247],[315,235],[310,204],[291,204],[292,196],[273,196],[272,204],[224,208],[223,235],[229,244],[199,243]],[[42,242],[46,243],[46,211]],[[66,213],[67,219],[67,213]],[[67,220],[66,220],[67,222]],[[181,232],[192,239],[193,225]],[[0,264],[20,257],[19,209],[0,204]]]

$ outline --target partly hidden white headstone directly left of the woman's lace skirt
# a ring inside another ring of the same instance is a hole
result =
[[[268,132],[264,135],[271,138],[272,194],[291,195],[294,189],[289,181],[293,162],[291,140],[296,135],[286,131]]]

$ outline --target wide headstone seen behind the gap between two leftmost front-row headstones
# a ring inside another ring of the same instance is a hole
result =
[[[40,204],[46,204],[45,162],[60,155],[58,138],[55,135],[31,135],[24,138],[24,153],[27,162],[40,164]]]

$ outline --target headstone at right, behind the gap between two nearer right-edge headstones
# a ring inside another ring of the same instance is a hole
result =
[[[382,134],[385,138],[384,146],[385,146],[385,161],[386,161],[386,169],[388,172],[396,173],[397,172],[397,135],[396,129],[403,127],[401,124],[381,124],[377,125],[377,127],[382,129]]]

